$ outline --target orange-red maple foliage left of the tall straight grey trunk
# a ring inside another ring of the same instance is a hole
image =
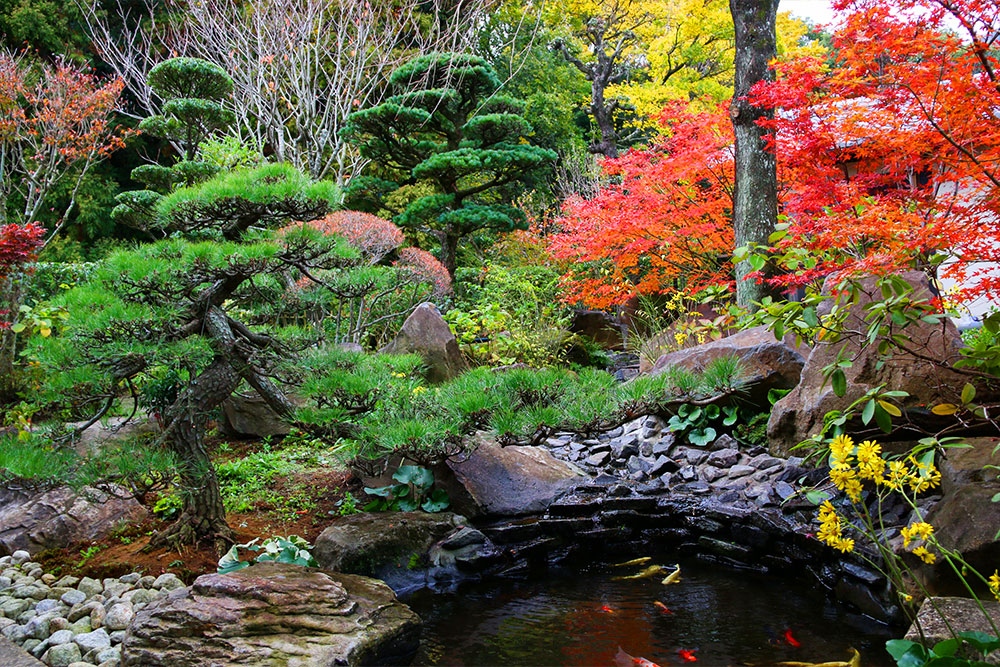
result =
[[[548,250],[570,266],[563,298],[591,308],[728,282],[733,130],[726,111],[664,109],[669,136],[607,160],[614,183],[568,199]]]

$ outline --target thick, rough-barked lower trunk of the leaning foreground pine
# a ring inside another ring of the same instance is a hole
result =
[[[184,504],[180,518],[153,538],[154,546],[211,539],[222,551],[232,541],[204,435],[211,410],[229,398],[239,382],[240,376],[227,356],[218,354],[170,407],[165,427],[170,432],[169,446],[180,464],[179,486]]]

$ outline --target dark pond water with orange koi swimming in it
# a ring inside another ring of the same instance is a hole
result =
[[[627,654],[657,665],[768,665],[846,660],[850,647],[864,667],[893,664],[888,628],[797,579],[681,567],[681,581],[668,586],[663,575],[612,579],[641,566],[592,565],[418,591],[403,598],[424,620],[413,664],[642,664]]]

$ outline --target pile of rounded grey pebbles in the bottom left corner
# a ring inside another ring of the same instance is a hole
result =
[[[118,667],[136,613],[183,587],[174,574],[57,578],[16,551],[0,558],[0,634],[50,667]]]

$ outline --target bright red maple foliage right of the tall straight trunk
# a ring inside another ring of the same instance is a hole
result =
[[[940,264],[958,298],[1000,294],[1000,1],[836,4],[836,66],[778,63],[754,90],[779,109],[780,249],[811,258],[781,280]]]

